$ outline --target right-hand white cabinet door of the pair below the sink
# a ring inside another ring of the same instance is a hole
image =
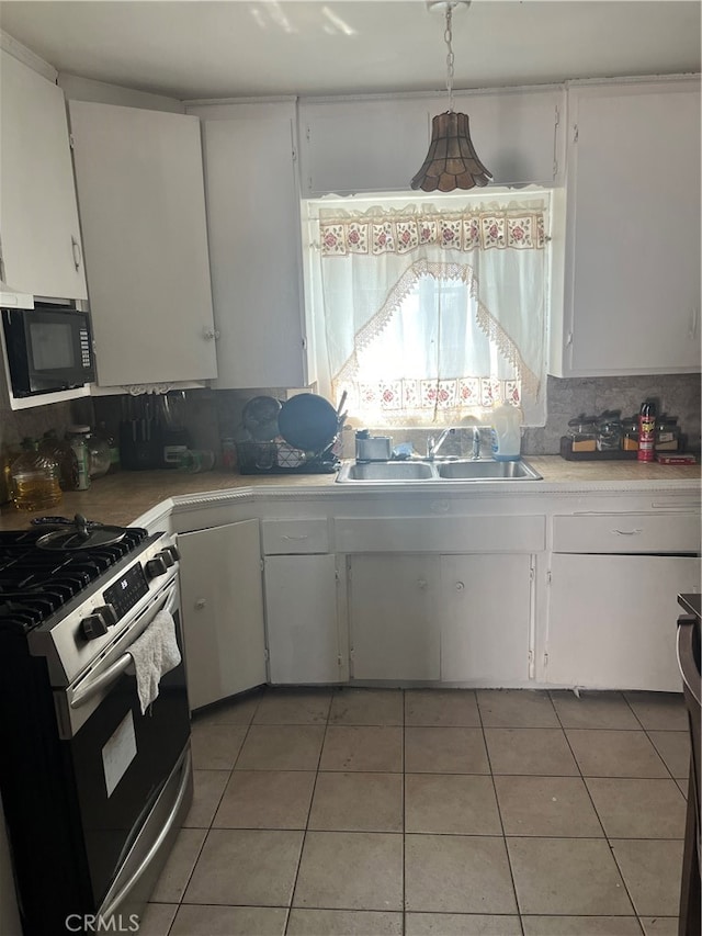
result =
[[[529,555],[441,556],[441,679],[529,679]]]

